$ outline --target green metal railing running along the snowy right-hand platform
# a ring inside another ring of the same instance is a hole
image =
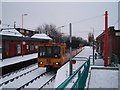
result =
[[[70,88],[71,90],[74,90],[74,89],[84,90],[84,88],[86,86],[86,79],[88,77],[89,67],[90,67],[90,57],[89,57],[89,59],[86,57],[75,57],[77,59],[83,58],[84,60],[77,60],[77,61],[85,61],[85,63],[82,66],[80,66],[62,84],[60,84],[56,88],[56,90],[64,90],[65,88]],[[72,80],[75,80],[75,82],[72,83]],[[72,86],[71,86],[71,84],[72,84]]]

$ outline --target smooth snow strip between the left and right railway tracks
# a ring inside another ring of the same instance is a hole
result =
[[[28,82],[33,82],[38,77],[44,75],[45,72],[46,72],[45,68],[41,68],[41,69],[37,68],[31,73],[26,73],[26,75],[23,75],[15,79],[14,81],[9,80],[10,82],[8,82],[7,84],[3,84],[2,88],[15,88],[15,89],[23,88],[28,84]]]

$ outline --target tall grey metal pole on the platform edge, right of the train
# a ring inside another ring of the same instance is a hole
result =
[[[69,76],[72,75],[72,24],[70,23],[69,24],[70,26],[70,73],[69,73]]]

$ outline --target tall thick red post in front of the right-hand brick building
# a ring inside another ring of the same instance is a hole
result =
[[[108,13],[105,11],[104,66],[108,65]]]

